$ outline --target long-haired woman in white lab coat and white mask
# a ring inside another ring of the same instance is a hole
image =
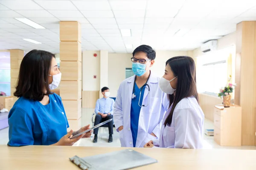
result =
[[[144,147],[202,148],[204,113],[198,104],[195,62],[191,57],[173,57],[166,62],[161,90],[171,104],[163,118],[160,138]]]

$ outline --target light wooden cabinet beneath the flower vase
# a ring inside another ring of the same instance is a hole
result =
[[[214,140],[221,146],[241,146],[241,107],[215,105]]]

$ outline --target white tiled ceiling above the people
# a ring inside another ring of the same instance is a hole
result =
[[[256,20],[256,0],[0,0],[0,50],[58,53],[59,21],[70,20],[81,23],[82,50],[130,53],[147,44],[156,50],[188,51],[236,31],[241,21]],[[120,29],[131,29],[131,37],[122,37]]]

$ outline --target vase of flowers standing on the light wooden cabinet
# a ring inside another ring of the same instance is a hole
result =
[[[233,93],[233,90],[236,86],[235,84],[230,83],[230,80],[231,80],[231,75],[229,77],[226,87],[221,88],[220,93],[218,94],[218,96],[221,98],[223,96],[223,105],[225,108],[230,107],[230,99],[231,99],[230,93]]]

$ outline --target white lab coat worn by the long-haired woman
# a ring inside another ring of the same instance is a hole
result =
[[[171,107],[172,108],[172,107]],[[202,148],[204,113],[195,97],[184,98],[175,107],[171,126],[164,126],[171,108],[163,118],[160,138],[153,140],[155,147]]]

